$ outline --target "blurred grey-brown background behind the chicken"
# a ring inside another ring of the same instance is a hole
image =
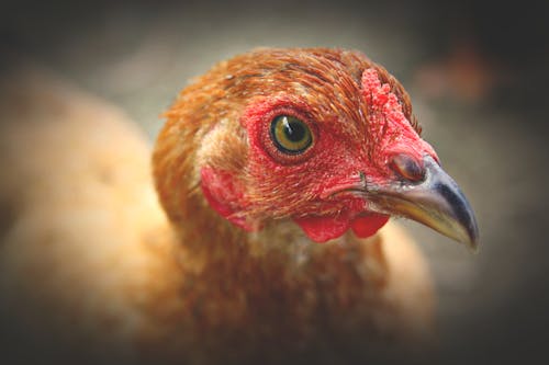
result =
[[[232,55],[366,53],[411,93],[479,220],[478,254],[405,223],[438,289],[438,360],[507,364],[549,341],[547,14],[544,1],[4,1],[0,49],[121,106],[152,140],[176,93]]]

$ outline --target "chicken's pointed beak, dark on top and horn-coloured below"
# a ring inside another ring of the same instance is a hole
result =
[[[469,202],[432,157],[424,158],[424,167],[418,183],[368,186],[369,208],[416,220],[475,251],[479,228]]]

